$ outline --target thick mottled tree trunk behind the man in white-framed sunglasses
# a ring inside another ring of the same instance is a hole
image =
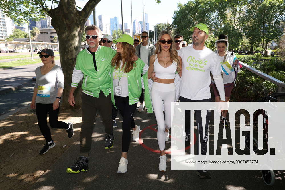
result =
[[[72,108],[68,103],[68,95],[71,87],[72,71],[76,64],[76,56],[80,52],[80,43],[84,31],[84,23],[86,22],[85,19],[79,18],[76,14],[68,14],[68,18],[65,18],[67,13],[64,11],[51,15],[51,25],[56,30],[58,36],[60,64],[64,74],[64,91],[61,103],[63,109]],[[61,17],[61,19],[58,19],[58,17]],[[81,107],[81,93],[81,85],[78,85],[74,92],[76,102],[74,109]]]

